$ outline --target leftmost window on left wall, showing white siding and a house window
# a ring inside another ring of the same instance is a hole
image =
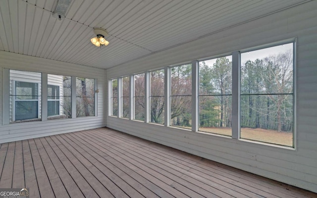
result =
[[[10,122],[41,118],[41,73],[10,70]]]

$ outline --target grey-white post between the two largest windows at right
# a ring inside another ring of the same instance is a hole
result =
[[[232,138],[240,139],[240,52],[232,53]]]

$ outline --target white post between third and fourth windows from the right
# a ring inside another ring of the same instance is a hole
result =
[[[164,126],[170,125],[170,67],[164,69]]]

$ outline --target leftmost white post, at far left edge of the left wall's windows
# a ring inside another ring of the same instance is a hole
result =
[[[10,123],[10,70],[3,68],[3,84],[2,84],[2,89],[3,89],[3,125],[4,124],[9,124]],[[14,89],[12,87],[12,89]],[[12,100],[13,100],[12,96]]]

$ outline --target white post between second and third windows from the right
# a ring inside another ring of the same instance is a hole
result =
[[[192,61],[192,131],[198,131],[199,127],[199,104],[198,104],[198,71],[199,62],[198,60]]]

